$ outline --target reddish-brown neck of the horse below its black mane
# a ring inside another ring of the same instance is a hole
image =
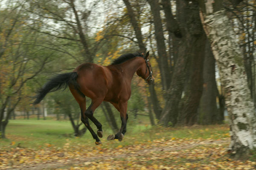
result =
[[[138,69],[140,69],[144,60],[142,57],[135,57],[124,63],[122,63],[123,72],[128,75],[128,78],[132,79]]]

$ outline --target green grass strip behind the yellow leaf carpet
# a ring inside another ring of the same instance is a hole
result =
[[[96,131],[95,125],[90,123]],[[192,126],[192,127],[151,127],[150,125],[136,125],[129,122],[127,133],[122,142],[106,138],[113,132],[103,123],[104,136],[101,139],[103,147],[114,148],[118,145],[126,146],[134,143],[144,143],[158,139],[219,139],[228,136],[227,125]],[[95,140],[89,131],[84,136],[74,137],[73,129],[69,121],[56,121],[53,119],[16,119],[10,120],[6,127],[7,139],[0,139],[0,147],[21,147],[41,149],[44,147],[62,148],[67,142],[70,146],[82,145],[83,147],[95,147]]]

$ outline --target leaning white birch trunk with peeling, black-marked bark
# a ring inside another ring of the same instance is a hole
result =
[[[207,14],[203,24],[224,87],[230,123],[230,150],[243,153],[256,148],[256,114],[247,85],[242,52],[224,10]]]

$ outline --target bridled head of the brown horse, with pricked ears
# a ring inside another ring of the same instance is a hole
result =
[[[142,77],[149,85],[154,83],[154,76],[151,70],[151,64],[149,62],[149,51],[143,57],[145,59],[145,63],[141,66],[141,68],[137,71],[137,75]]]

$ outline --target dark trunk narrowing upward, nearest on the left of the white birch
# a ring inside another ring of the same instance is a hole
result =
[[[210,48],[209,41],[206,41],[203,71],[203,94],[200,101],[198,123],[209,125],[215,122],[218,114],[216,97],[217,85],[215,80],[215,59]]]

